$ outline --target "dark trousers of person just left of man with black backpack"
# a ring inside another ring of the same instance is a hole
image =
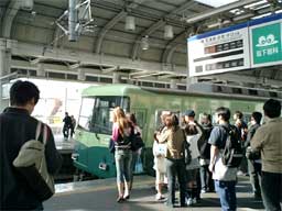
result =
[[[214,181],[213,175],[208,170],[208,165],[200,166],[199,168],[199,176],[200,176],[200,188],[205,191],[214,191]]]

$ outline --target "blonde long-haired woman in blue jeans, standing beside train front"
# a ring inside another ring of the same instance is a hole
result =
[[[120,107],[113,109],[112,141],[115,142],[115,159],[117,168],[117,186],[119,197],[117,202],[129,199],[129,184],[131,171],[131,127]]]

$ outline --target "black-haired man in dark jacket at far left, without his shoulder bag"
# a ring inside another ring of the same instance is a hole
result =
[[[10,89],[11,107],[0,114],[0,210],[43,210],[42,201],[12,164],[21,146],[35,140],[39,121],[31,113],[39,99],[40,90],[34,84],[18,80]],[[46,127],[45,158],[48,173],[54,175],[62,157],[51,129]]]

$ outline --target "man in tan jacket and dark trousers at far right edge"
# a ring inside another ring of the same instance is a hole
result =
[[[261,193],[267,211],[281,211],[282,203],[282,118],[281,102],[270,99],[263,106],[265,124],[251,140],[251,148],[261,152]]]

